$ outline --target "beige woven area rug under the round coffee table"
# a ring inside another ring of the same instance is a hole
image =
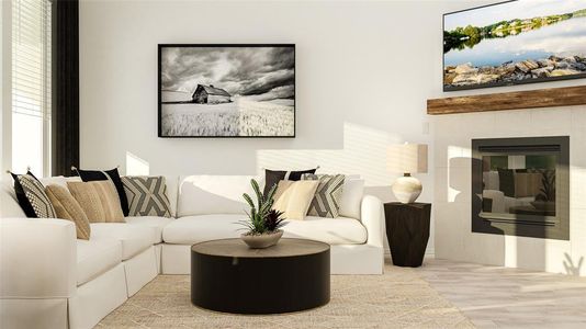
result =
[[[328,305],[301,313],[244,316],[198,308],[189,275],[159,275],[98,328],[473,328],[413,269],[333,275]]]

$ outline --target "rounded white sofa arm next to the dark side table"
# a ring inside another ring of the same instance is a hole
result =
[[[385,220],[382,201],[373,195],[364,195],[360,207],[360,219],[369,234],[367,245],[383,248]]]

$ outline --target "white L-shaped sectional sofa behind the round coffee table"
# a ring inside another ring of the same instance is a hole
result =
[[[167,177],[173,218],[126,217],[91,224],[76,239],[71,222],[25,218],[11,182],[0,188],[0,328],[92,328],[157,274],[189,274],[190,246],[238,237],[245,175]],[[79,178],[50,178],[66,184]],[[331,246],[333,274],[383,272],[381,201],[347,180],[341,217],[290,220],[284,237]]]

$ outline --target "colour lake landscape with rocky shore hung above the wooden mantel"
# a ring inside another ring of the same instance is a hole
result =
[[[586,0],[517,0],[443,15],[443,90],[586,78]]]

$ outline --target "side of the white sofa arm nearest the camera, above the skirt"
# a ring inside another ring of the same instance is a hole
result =
[[[72,296],[76,258],[72,222],[0,218],[0,298]]]

